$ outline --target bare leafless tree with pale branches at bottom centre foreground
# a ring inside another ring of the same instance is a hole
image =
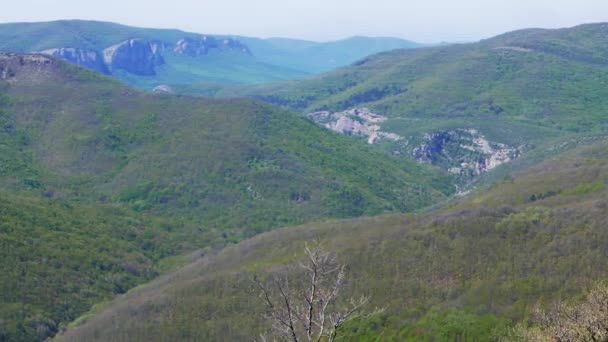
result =
[[[306,244],[304,250],[305,261],[293,267],[301,271],[301,279],[290,281],[290,272],[285,272],[266,283],[257,277],[254,280],[267,306],[275,340],[333,342],[346,322],[363,316],[361,309],[368,298],[351,298],[348,305],[336,309],[336,298],[344,286],[345,266],[338,264],[335,254],[325,251],[319,242],[312,247]]]

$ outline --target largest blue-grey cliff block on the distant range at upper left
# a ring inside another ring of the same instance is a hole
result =
[[[124,70],[140,76],[156,75],[156,67],[165,63],[162,44],[141,39],[129,39],[103,50],[110,70]]]

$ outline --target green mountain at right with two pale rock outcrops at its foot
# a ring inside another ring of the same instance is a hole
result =
[[[522,30],[383,52],[306,80],[207,93],[252,96],[366,139],[401,137],[377,142],[467,183],[547,143],[607,131],[607,34],[605,23]],[[362,114],[369,112],[381,122]]]

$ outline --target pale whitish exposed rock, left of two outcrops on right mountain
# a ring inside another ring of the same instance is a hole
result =
[[[385,140],[399,140],[401,137],[394,133],[380,130],[379,123],[386,121],[386,117],[372,113],[367,108],[354,108],[344,112],[314,112],[306,115],[312,121],[325,128],[346,135],[366,136],[369,144]]]

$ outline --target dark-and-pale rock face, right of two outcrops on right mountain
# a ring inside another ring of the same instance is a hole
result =
[[[428,133],[413,155],[421,163],[433,164],[465,178],[476,177],[519,157],[521,150],[490,142],[475,129]]]

